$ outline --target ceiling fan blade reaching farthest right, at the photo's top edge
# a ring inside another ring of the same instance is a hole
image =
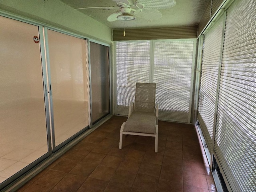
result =
[[[137,0],[136,3],[144,4],[144,10],[168,9],[176,5],[175,0]]]

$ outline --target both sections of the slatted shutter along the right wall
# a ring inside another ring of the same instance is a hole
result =
[[[198,120],[200,126],[203,124],[208,145],[214,138],[214,156],[231,190],[256,191],[255,0],[235,0],[227,8],[224,19],[220,17],[205,35]],[[218,34],[222,31],[217,25],[222,22],[225,24],[224,40],[218,45],[222,54],[215,54]],[[214,33],[216,36],[210,37]],[[208,45],[209,37],[212,43]],[[216,61],[216,65],[222,55],[219,81],[216,80],[217,71],[209,68],[206,62],[207,53],[211,64]],[[213,97],[215,95],[217,98]],[[212,113],[213,106],[217,106],[216,114]],[[214,124],[216,126],[212,127]]]

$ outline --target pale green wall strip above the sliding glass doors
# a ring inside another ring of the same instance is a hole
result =
[[[0,10],[76,34],[111,42],[111,29],[59,0],[0,0]]]

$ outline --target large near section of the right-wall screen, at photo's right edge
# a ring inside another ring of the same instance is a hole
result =
[[[256,191],[256,1],[227,10],[214,151],[233,191]]]

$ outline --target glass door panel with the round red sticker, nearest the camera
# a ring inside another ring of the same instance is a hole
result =
[[[0,16],[0,183],[48,152],[38,26]]]

